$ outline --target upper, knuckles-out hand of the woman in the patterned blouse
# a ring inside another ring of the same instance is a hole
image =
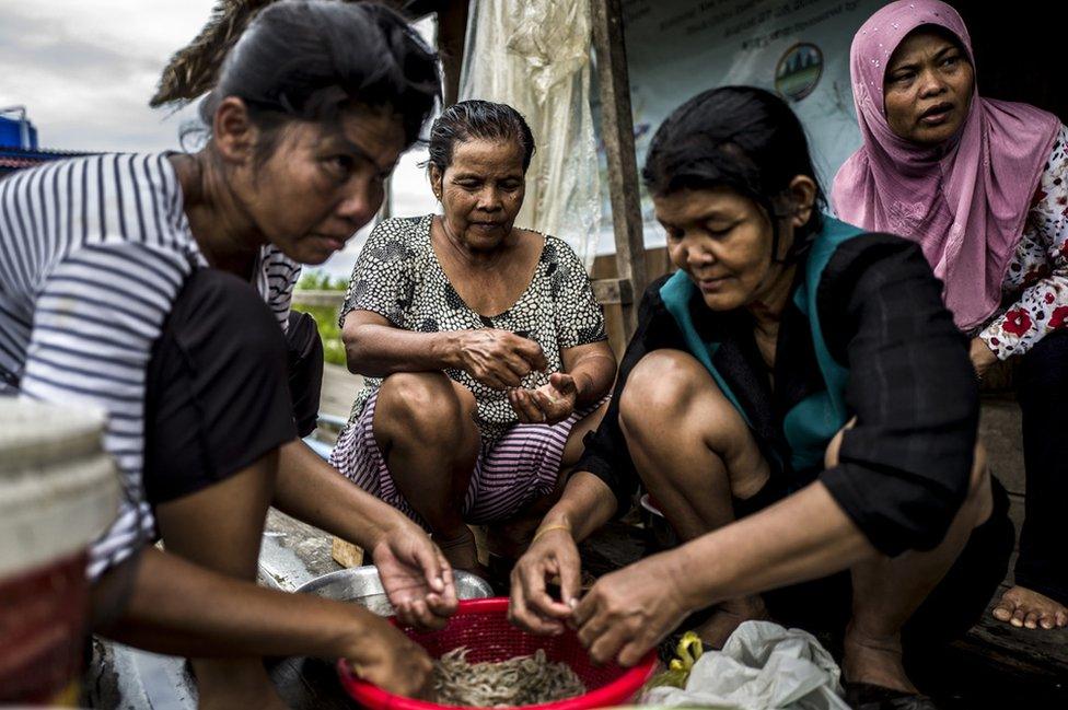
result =
[[[531,372],[548,366],[542,346],[509,330],[461,330],[457,366],[494,389],[518,387]]]

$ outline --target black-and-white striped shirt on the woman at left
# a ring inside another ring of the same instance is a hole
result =
[[[152,535],[146,373],[186,277],[204,267],[166,154],[93,155],[0,181],[0,395],[104,409],[104,449],[124,477],[92,578]],[[285,330],[300,266],[265,246],[254,273]]]

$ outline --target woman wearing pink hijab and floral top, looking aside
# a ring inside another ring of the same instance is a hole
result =
[[[982,377],[1018,370],[1028,477],[1015,586],[994,616],[1068,626],[1068,129],[1046,112],[979,96],[972,42],[955,10],[901,0],[854,37],[863,146],[838,171],[840,219],[917,241],[971,337]],[[1057,526],[1061,528],[1058,531]]]

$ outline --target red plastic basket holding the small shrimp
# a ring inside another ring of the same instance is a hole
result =
[[[564,661],[570,665],[588,688],[588,692],[577,698],[525,706],[526,710],[587,710],[622,705],[638,692],[657,667],[655,651],[646,654],[632,668],[624,668],[615,663],[594,665],[579,643],[578,636],[570,629],[555,637],[521,631],[508,621],[507,597],[461,602],[460,609],[449,621],[449,626],[440,631],[418,631],[410,627],[400,629],[436,659],[461,645],[471,649],[467,660],[472,663],[507,661],[544,649],[550,661]],[[455,707],[386,692],[357,678],[344,659],[337,662],[337,670],[346,691],[369,710],[434,710]]]

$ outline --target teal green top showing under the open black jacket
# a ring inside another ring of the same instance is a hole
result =
[[[862,230],[824,216],[823,228],[813,237],[812,247],[804,261],[803,278],[793,292],[794,304],[809,321],[816,361],[826,387],[794,405],[783,419],[782,431],[790,445],[790,463],[794,470],[821,465],[827,444],[849,420],[845,395],[849,371],[831,356],[820,326],[816,294],[823,271],[835,251],[843,242],[860,234],[863,234]],[[697,287],[685,272],[678,271],[661,287],[660,298],[682,330],[690,354],[705,365],[723,395],[745,423],[752,427],[748,415],[712,364],[720,344],[698,333],[690,317],[689,303],[694,298],[699,298]]]

